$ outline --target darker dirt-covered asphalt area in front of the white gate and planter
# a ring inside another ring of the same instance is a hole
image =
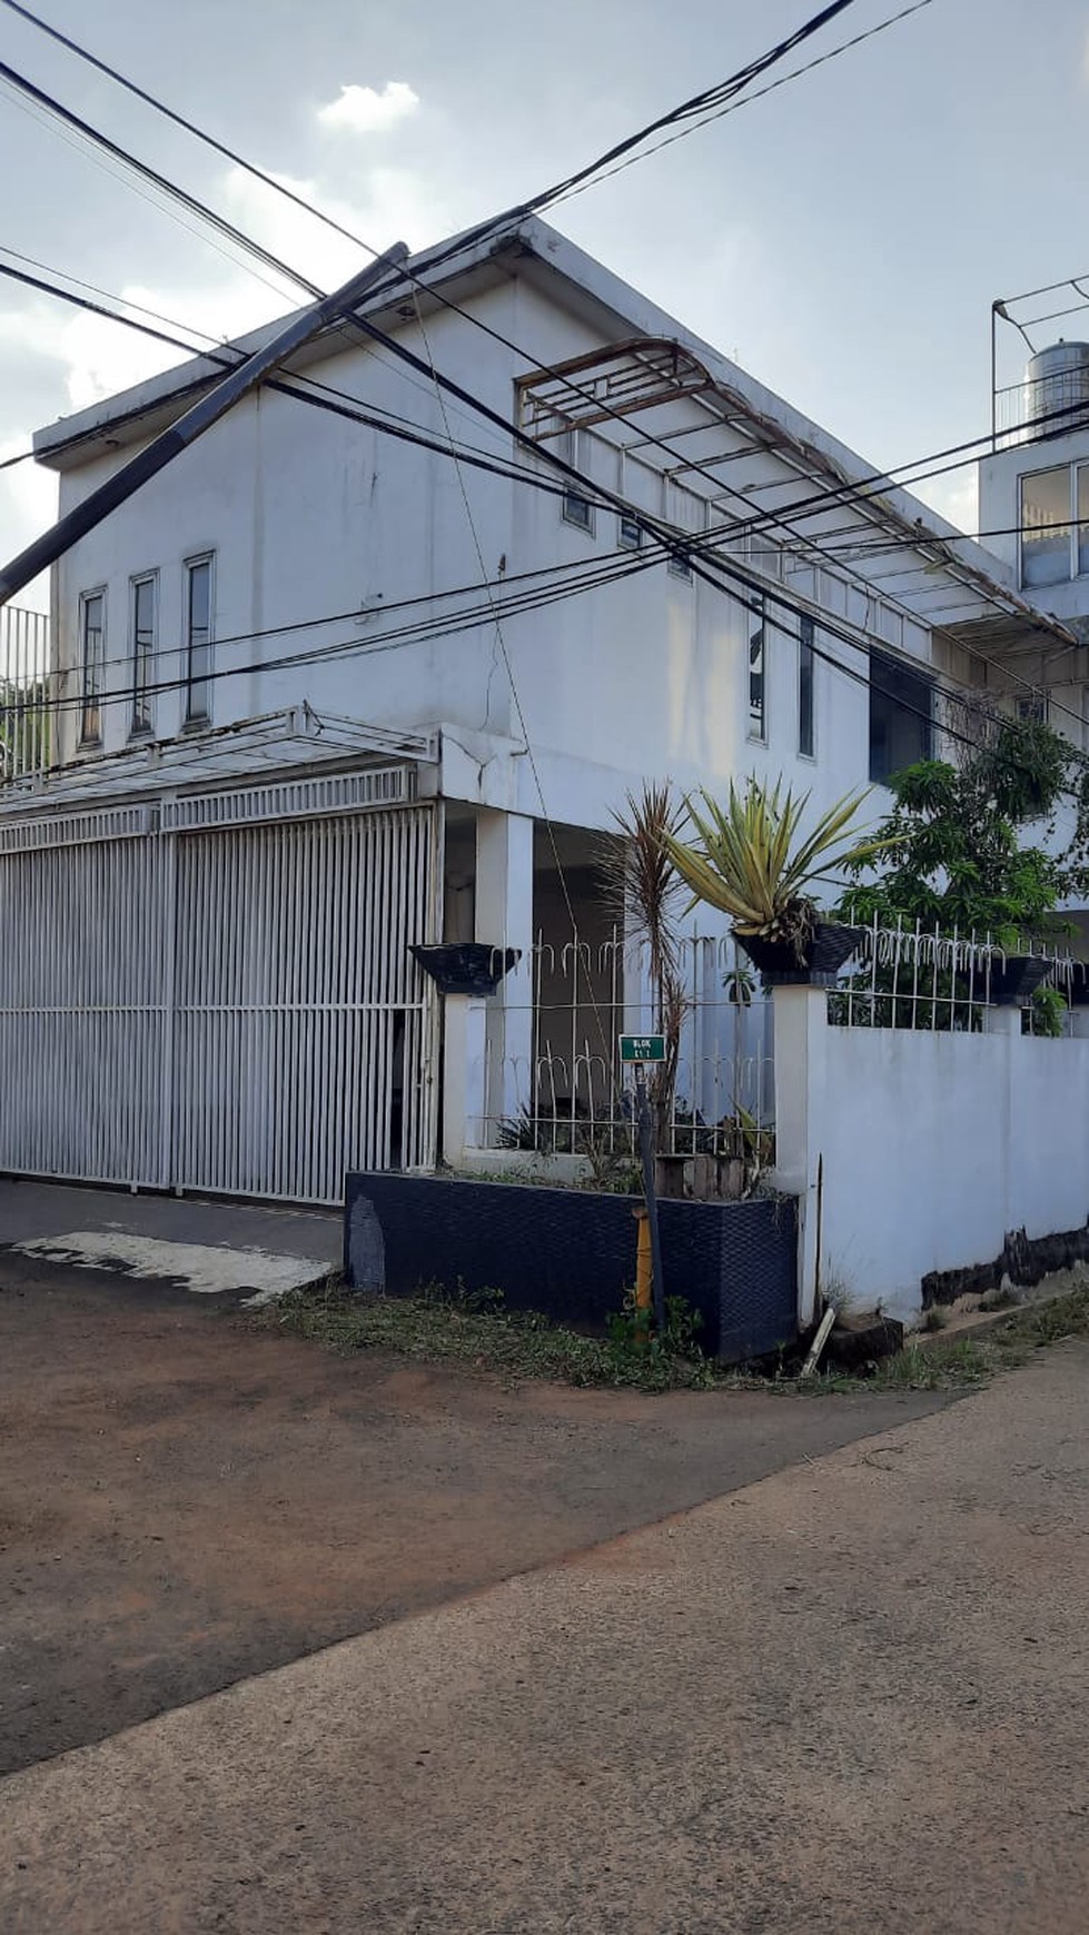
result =
[[[0,1772],[940,1403],[509,1391],[4,1256]]]

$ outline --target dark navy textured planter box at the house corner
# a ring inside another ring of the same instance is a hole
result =
[[[410,1296],[422,1283],[499,1289],[515,1310],[605,1324],[634,1283],[634,1198],[516,1182],[346,1178],[344,1275]],[[737,1364],[797,1337],[797,1221],[789,1198],[660,1204],[667,1296],[704,1320],[706,1351]]]

